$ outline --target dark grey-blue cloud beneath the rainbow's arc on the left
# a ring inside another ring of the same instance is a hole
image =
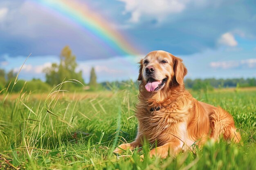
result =
[[[0,56],[59,55],[65,45],[71,47],[78,60],[119,55],[83,27],[29,1],[9,8],[0,30]]]

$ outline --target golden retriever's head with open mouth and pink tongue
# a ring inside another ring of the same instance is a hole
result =
[[[173,84],[183,85],[187,73],[182,59],[166,51],[152,51],[139,64],[138,80],[149,92],[161,91]]]

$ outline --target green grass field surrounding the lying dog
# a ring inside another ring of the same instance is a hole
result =
[[[148,144],[116,157],[112,151],[136,136],[137,88],[126,91],[0,96],[0,169],[250,170],[256,169],[256,89],[192,92],[234,116],[240,144],[207,142],[175,159],[149,158]],[[144,154],[144,160],[140,155]]]

